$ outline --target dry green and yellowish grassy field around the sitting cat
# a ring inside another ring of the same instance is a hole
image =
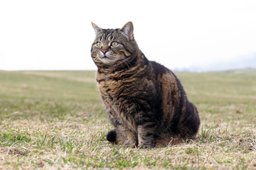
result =
[[[198,138],[132,149],[105,140],[95,72],[0,71],[0,169],[256,169],[256,70],[176,74]]]

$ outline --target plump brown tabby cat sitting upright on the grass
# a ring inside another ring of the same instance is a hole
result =
[[[196,106],[171,70],[147,60],[139,50],[132,22],[120,29],[102,29],[95,23],[92,27],[97,87],[114,125],[107,140],[151,148],[194,139],[200,125]]]

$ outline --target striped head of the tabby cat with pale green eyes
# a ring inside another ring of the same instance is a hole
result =
[[[129,64],[137,51],[134,40],[132,22],[126,23],[120,29],[102,29],[92,23],[96,38],[92,43],[91,55],[95,64],[105,67]]]

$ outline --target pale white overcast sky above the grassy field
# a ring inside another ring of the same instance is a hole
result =
[[[255,9],[254,0],[1,0],[0,69],[97,69],[91,22],[122,28],[128,21],[144,55],[170,69],[256,63]]]

